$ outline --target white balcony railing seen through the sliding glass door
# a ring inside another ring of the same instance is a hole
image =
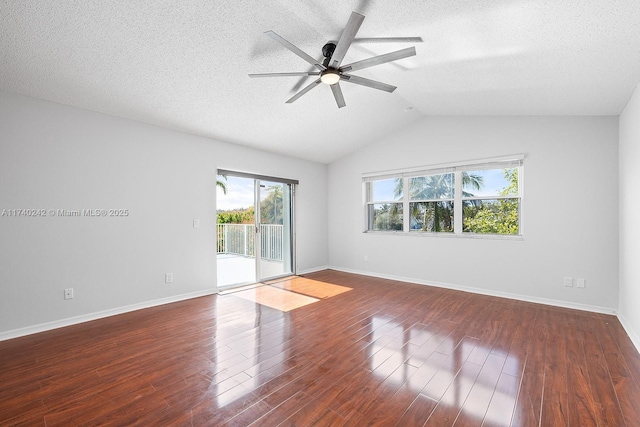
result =
[[[217,252],[255,257],[253,224],[218,224]],[[283,227],[275,224],[260,225],[260,255],[262,259],[282,261]]]

